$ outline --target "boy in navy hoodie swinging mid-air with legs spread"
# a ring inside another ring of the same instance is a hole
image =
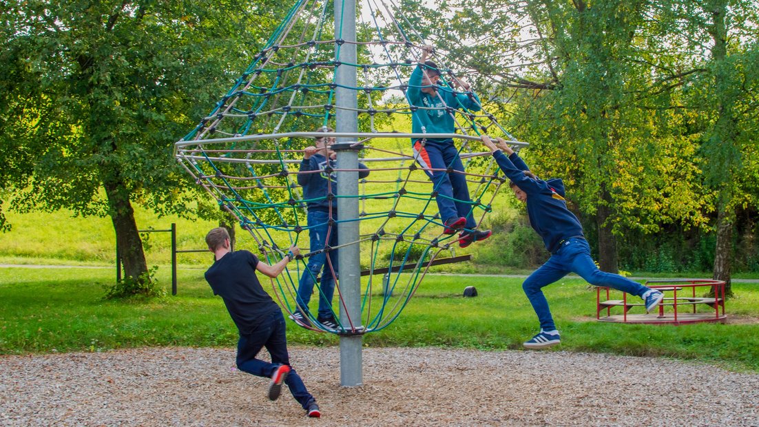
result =
[[[524,347],[544,348],[561,342],[542,288],[570,272],[594,286],[613,287],[641,297],[646,303],[646,312],[655,309],[663,299],[660,291],[598,269],[591,258],[591,247],[585,240],[580,221],[567,209],[562,180],[543,181],[536,177],[505,140],[497,140],[496,146],[490,137],[482,136],[483,143],[493,152],[493,158],[511,180],[509,186],[514,195],[520,202],[527,203],[530,226],[543,238],[546,250],[551,253],[550,259],[522,284],[522,289],[540,320],[540,332],[525,342]]]

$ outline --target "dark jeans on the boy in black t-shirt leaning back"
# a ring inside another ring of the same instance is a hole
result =
[[[256,356],[262,347],[266,347],[272,356],[272,363],[257,359]],[[287,338],[285,338],[285,317],[282,310],[275,310],[261,325],[250,334],[240,334],[237,355],[238,369],[260,377],[271,378],[279,365],[290,366],[290,356],[287,353]],[[285,378],[285,384],[290,388],[290,393],[301,403],[303,409],[308,408],[308,403],[313,396],[306,390],[301,376],[290,366],[290,374]]]

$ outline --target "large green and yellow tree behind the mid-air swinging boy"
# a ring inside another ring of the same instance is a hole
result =
[[[699,72],[668,15],[681,2],[466,3],[430,12],[455,28],[435,36],[480,71],[493,101],[510,102],[502,111],[531,143],[536,169],[573,184],[604,269],[616,269],[614,237],[625,229],[707,227],[713,196],[695,160],[698,116],[676,91]],[[434,29],[433,20],[422,26]]]

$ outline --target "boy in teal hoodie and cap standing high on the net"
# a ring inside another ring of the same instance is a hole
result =
[[[408,102],[411,104],[411,130],[414,133],[455,133],[455,111],[480,111],[480,99],[474,93],[455,93],[446,86],[438,86],[440,71],[427,55],[432,46],[424,46],[417,68],[408,80]],[[470,86],[461,80],[451,82],[468,91]],[[471,213],[471,199],[464,174],[464,165],[451,138],[423,138],[411,141],[414,159],[424,168],[433,182],[437,208],[444,224],[444,234],[461,231],[458,245],[467,247],[478,240],[490,237],[490,230],[479,231]],[[453,171],[449,173],[447,168]]]

